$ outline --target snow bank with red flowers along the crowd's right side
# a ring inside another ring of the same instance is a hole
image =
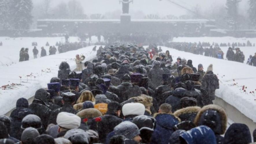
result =
[[[180,56],[186,60],[191,59],[196,68],[198,64],[203,64],[205,71],[209,64],[213,64],[213,72],[220,80],[220,89],[216,90],[216,96],[222,98],[246,117],[256,122],[256,115],[254,114],[256,111],[256,97],[253,93],[250,93],[252,91],[256,93],[256,67],[239,62],[195,55],[167,47],[162,47],[162,49],[163,52],[169,50],[174,61]],[[245,86],[246,92],[242,90],[242,86]]]

